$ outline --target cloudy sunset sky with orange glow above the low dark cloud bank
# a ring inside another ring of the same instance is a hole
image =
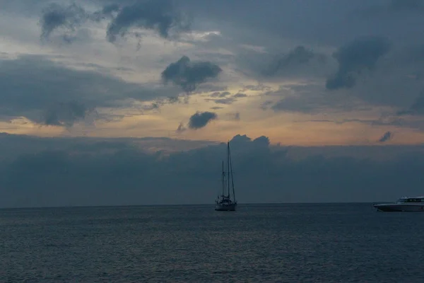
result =
[[[424,1],[0,0],[0,7],[0,132],[59,143],[167,142],[149,151],[237,134],[277,147],[424,141]]]

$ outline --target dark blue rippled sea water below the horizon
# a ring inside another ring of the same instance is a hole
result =
[[[0,209],[0,282],[424,282],[423,251],[371,204]]]

